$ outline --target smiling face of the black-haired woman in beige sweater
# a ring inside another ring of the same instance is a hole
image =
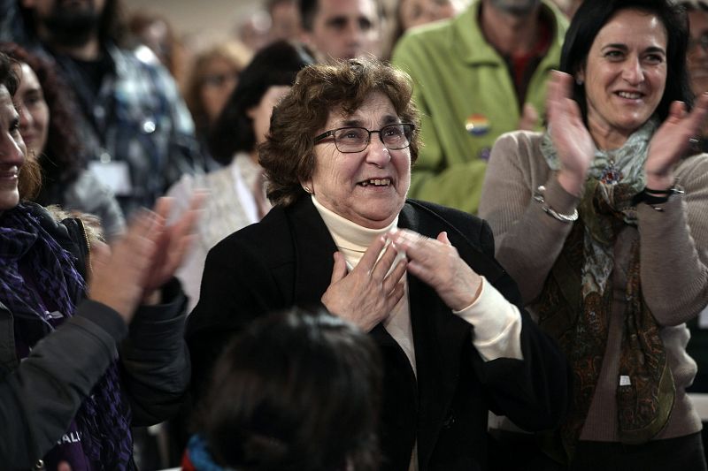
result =
[[[653,14],[621,10],[599,31],[586,64],[590,134],[619,148],[657,109],[666,87],[666,28]]]

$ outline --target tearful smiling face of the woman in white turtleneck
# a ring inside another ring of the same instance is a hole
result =
[[[327,124],[320,131],[344,126],[378,130],[400,122],[389,97],[376,92],[352,115],[330,111]],[[371,229],[386,227],[396,218],[411,184],[408,148],[389,150],[374,133],[361,152],[343,154],[331,137],[320,141],[314,152],[315,171],[310,180],[302,183],[312,189],[325,208]]]

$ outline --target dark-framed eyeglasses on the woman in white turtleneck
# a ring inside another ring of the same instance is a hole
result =
[[[401,123],[398,125],[385,125],[378,131],[370,131],[366,127],[340,127],[321,133],[315,137],[314,143],[332,136],[335,140],[335,147],[344,154],[361,152],[369,147],[372,133],[379,133],[379,139],[389,150],[400,150],[411,145],[415,125]]]

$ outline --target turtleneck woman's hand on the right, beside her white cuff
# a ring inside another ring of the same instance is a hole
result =
[[[391,234],[408,257],[408,271],[432,286],[448,308],[459,311],[479,296],[481,277],[452,247],[447,232],[429,239],[418,232],[399,229]]]

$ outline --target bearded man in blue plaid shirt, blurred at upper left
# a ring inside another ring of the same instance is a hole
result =
[[[173,78],[154,57],[121,47],[119,2],[1,0],[0,37],[57,64],[73,89],[89,167],[129,216],[204,163]]]

